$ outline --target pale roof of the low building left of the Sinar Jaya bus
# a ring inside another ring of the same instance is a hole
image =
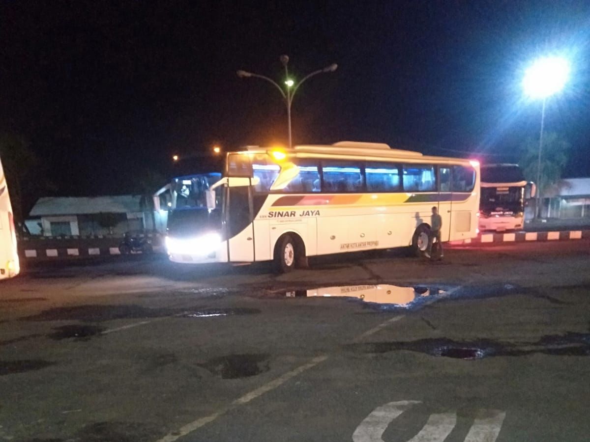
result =
[[[140,198],[139,195],[42,197],[37,200],[29,216],[141,212]]]

